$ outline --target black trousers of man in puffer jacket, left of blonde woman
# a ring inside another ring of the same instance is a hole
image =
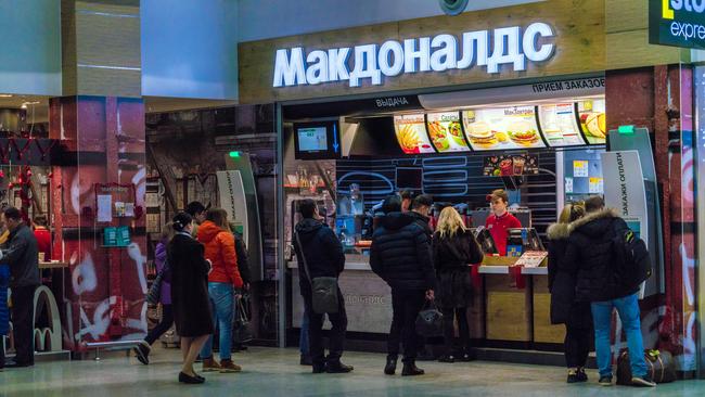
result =
[[[423,290],[396,290],[392,289],[392,326],[387,340],[387,355],[399,355],[399,341],[403,346],[403,361],[416,359],[420,341],[416,334],[416,317],[426,299]]]

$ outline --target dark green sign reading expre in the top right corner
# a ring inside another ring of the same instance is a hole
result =
[[[705,49],[705,0],[649,0],[649,42]]]

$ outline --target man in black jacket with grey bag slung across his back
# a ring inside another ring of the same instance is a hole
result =
[[[316,202],[304,200],[299,204],[299,210],[304,219],[295,228],[294,249],[298,259],[298,284],[304,297],[306,312],[309,315],[308,332],[313,373],[350,372],[352,367],[341,362],[345,344],[345,331],[347,330],[347,315],[343,293],[338,289],[337,312],[328,315],[333,328],[330,332],[329,356],[325,358],[322,334],[323,315],[313,311],[310,283],[310,280],[319,277],[337,278],[341,276],[345,268],[343,245],[335,233],[321,221]]]

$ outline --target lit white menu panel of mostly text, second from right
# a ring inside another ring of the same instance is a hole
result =
[[[541,132],[549,146],[575,146],[586,144],[575,117],[573,103],[539,106]]]

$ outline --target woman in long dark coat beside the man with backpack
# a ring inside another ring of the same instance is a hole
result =
[[[575,302],[578,264],[565,260],[573,222],[585,216],[582,203],[567,204],[557,223],[548,229],[549,238],[549,291],[551,292],[551,323],[565,324],[565,361],[568,383],[587,382],[585,364],[592,340],[590,303]]]

